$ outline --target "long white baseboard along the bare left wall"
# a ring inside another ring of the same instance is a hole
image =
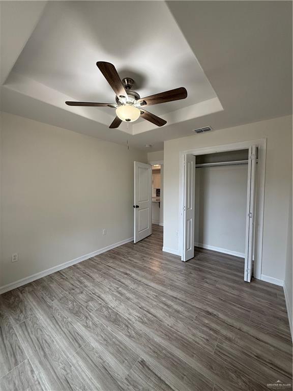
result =
[[[53,267],[50,267],[49,269],[40,271],[39,273],[29,275],[28,277],[25,277],[25,278],[21,278],[21,280],[15,281],[14,283],[4,285],[3,287],[0,287],[0,295],[2,293],[11,291],[12,289],[19,288],[22,285],[31,283],[32,281],[39,280],[39,278],[45,277],[48,274],[55,273],[56,271],[65,269],[66,267],[75,265],[76,263],[85,261],[86,259],[89,259],[89,258],[95,257],[96,255],[105,253],[106,251],[111,250],[112,248],[119,247],[119,246],[122,246],[123,244],[132,242],[132,240],[133,240],[133,237],[122,240],[122,241],[114,243],[114,244],[110,244],[109,246],[100,248],[99,250],[96,250],[93,253],[82,255],[81,257],[72,259],[71,261],[64,262],[60,265],[53,266]]]

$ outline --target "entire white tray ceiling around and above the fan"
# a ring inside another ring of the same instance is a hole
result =
[[[152,150],[199,126],[291,113],[290,2],[2,2],[4,20],[10,113]],[[150,107],[162,128],[108,129],[113,110],[64,104],[114,101],[97,61],[133,77],[141,96],[186,87],[188,98]]]

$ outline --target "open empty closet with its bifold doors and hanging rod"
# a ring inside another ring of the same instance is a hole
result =
[[[194,257],[194,246],[242,257],[244,281],[250,282],[258,147],[200,152],[183,155],[182,260]]]

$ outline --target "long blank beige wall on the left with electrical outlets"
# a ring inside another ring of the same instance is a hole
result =
[[[131,238],[134,160],[147,153],[3,113],[0,286]]]

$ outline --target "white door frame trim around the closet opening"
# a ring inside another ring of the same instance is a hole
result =
[[[184,207],[184,159],[185,155],[206,155],[225,151],[248,149],[250,146],[258,147],[257,185],[256,185],[256,217],[255,217],[255,262],[254,277],[261,280],[262,265],[262,239],[263,239],[263,212],[265,204],[265,178],[267,138],[243,141],[238,143],[201,147],[180,152],[179,164],[179,255],[183,254],[183,207]]]

